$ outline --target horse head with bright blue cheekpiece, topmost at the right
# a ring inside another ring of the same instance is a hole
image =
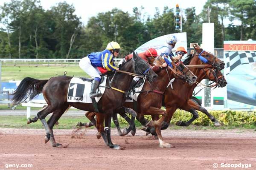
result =
[[[218,70],[224,69],[225,63],[221,61],[220,59],[218,61],[215,60],[215,57],[212,53],[209,53],[207,51],[204,51],[199,45],[194,44],[193,45],[195,51],[198,53],[198,58],[207,64],[212,65],[214,68]]]

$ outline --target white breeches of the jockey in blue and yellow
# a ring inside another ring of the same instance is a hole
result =
[[[93,79],[95,77],[101,78],[101,76],[99,75],[101,74],[101,72],[98,70],[97,67],[92,66],[89,57],[82,58],[79,62],[79,67]]]

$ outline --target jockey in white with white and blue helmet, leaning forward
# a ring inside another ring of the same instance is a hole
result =
[[[169,57],[174,56],[172,53],[172,48],[175,47],[175,44],[177,43],[177,37],[174,35],[171,35],[166,38],[167,45],[163,45],[162,47],[157,49],[157,54],[159,56],[167,55]]]

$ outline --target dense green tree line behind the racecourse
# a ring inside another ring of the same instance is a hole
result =
[[[113,8],[83,25],[74,6],[66,2],[45,10],[40,0],[12,0],[0,6],[0,58],[81,58],[102,51],[110,41],[119,42],[123,56],[148,40],[179,32],[174,8],[156,8],[154,17],[145,16],[143,9],[134,7],[129,14]],[[188,46],[202,42],[202,23],[208,22],[215,26],[215,48],[223,48],[224,40],[255,40],[255,9],[255,0],[208,0],[198,15],[195,7],[184,9]],[[228,26],[225,19],[230,20]]]

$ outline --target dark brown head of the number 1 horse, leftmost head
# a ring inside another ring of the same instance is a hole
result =
[[[150,66],[143,59],[141,59],[137,54],[135,54],[134,51],[131,61],[133,72],[135,74],[144,76],[146,79],[148,79],[149,82],[153,82],[157,79],[157,74],[150,68]]]

